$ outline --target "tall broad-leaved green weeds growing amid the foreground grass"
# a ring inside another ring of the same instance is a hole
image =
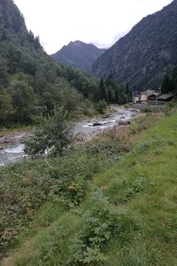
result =
[[[96,265],[106,261],[104,244],[112,236],[119,238],[128,230],[128,226],[124,226],[128,220],[126,213],[113,207],[100,189],[92,192],[89,205],[90,209],[82,215],[83,227],[69,246],[72,265]],[[130,219],[128,223],[131,228]]]

